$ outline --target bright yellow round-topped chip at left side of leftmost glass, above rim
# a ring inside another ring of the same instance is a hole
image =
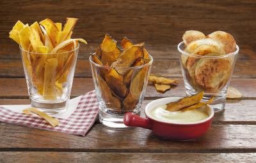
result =
[[[30,29],[29,26],[26,25],[20,32],[19,32],[19,39],[20,39],[20,46],[24,50],[29,50],[29,36],[30,36]]]

